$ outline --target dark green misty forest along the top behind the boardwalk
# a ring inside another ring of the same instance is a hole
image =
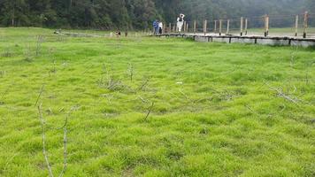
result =
[[[0,27],[143,29],[152,20],[294,15],[315,9],[314,0],[0,0]],[[282,24],[285,25],[285,24]]]

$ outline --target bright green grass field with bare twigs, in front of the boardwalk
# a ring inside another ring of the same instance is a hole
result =
[[[0,176],[49,175],[42,125],[55,176],[65,157],[65,176],[314,176],[314,67],[310,48],[0,28]]]

